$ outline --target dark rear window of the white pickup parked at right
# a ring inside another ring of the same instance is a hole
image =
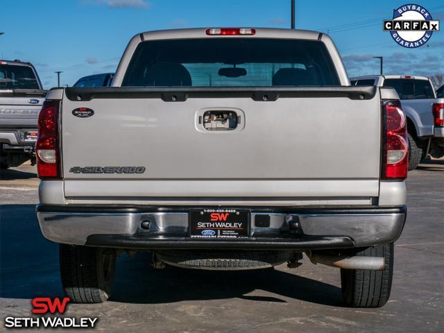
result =
[[[434,99],[432,85],[429,80],[414,80],[409,78],[388,78],[384,87],[393,87],[400,99]]]

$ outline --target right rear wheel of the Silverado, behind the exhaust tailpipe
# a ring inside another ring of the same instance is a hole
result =
[[[357,249],[354,255],[384,257],[384,271],[341,269],[341,290],[350,307],[382,307],[386,304],[393,279],[393,243]]]

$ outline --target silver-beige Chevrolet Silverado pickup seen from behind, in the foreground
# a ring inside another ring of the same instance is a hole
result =
[[[37,219],[73,302],[106,300],[117,255],[140,250],[155,268],[211,270],[305,253],[341,268],[345,304],[380,307],[407,214],[406,135],[395,90],[351,87],[323,33],[140,33],[112,87],[46,96]]]

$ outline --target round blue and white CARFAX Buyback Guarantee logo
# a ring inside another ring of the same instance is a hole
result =
[[[427,43],[434,31],[439,31],[439,20],[416,4],[402,5],[393,10],[393,19],[384,20],[384,31],[390,31],[393,40],[409,49]]]

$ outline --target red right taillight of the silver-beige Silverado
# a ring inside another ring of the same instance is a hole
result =
[[[407,178],[409,166],[409,144],[407,121],[398,100],[383,101],[384,149],[382,179],[400,180]]]

